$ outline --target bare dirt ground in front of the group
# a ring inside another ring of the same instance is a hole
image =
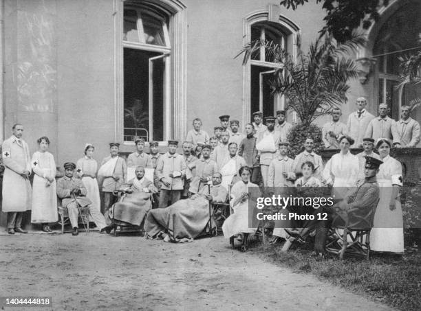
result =
[[[223,237],[172,244],[2,229],[0,246],[0,296],[53,300],[51,309],[3,310],[389,310],[232,250]]]

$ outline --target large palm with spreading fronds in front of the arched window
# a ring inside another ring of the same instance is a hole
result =
[[[354,34],[349,41],[338,44],[330,34],[319,37],[309,47],[307,54],[297,40],[297,59],[272,41],[253,41],[236,56],[244,54],[244,64],[255,56],[261,47],[266,54],[281,63],[283,68],[274,69],[270,80],[272,93],[284,95],[286,109],[294,110],[301,122],[310,125],[314,119],[347,102],[349,79],[358,78],[356,62],[349,58],[352,52],[365,44],[363,34]]]

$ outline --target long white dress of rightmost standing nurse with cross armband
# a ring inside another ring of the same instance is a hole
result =
[[[374,228],[370,233],[370,248],[372,251],[403,253],[403,218],[400,200],[395,201],[396,209],[393,211],[389,209],[393,185],[402,186],[402,165],[389,155],[382,161],[380,172],[377,174],[380,201],[374,215]]]

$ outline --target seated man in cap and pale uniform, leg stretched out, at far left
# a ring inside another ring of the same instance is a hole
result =
[[[67,207],[69,220],[72,224],[72,235],[78,235],[78,207],[89,207],[89,214],[94,220],[96,227],[100,229],[100,233],[111,231],[111,227],[105,224],[105,219],[100,211],[96,209],[91,200],[86,197],[87,189],[79,178],[74,177],[74,169],[76,164],[67,162],[64,164],[65,176],[57,181],[57,196],[63,199],[61,205]],[[87,224],[89,225],[89,224]]]

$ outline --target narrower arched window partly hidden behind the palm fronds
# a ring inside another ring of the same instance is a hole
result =
[[[272,41],[285,49],[288,37],[279,29],[276,23],[255,23],[251,27],[251,40]],[[273,95],[270,91],[269,81],[274,69],[283,65],[274,62],[273,56],[268,54],[265,47],[250,60],[250,112],[262,111],[263,115],[274,115],[281,108],[283,99]]]

